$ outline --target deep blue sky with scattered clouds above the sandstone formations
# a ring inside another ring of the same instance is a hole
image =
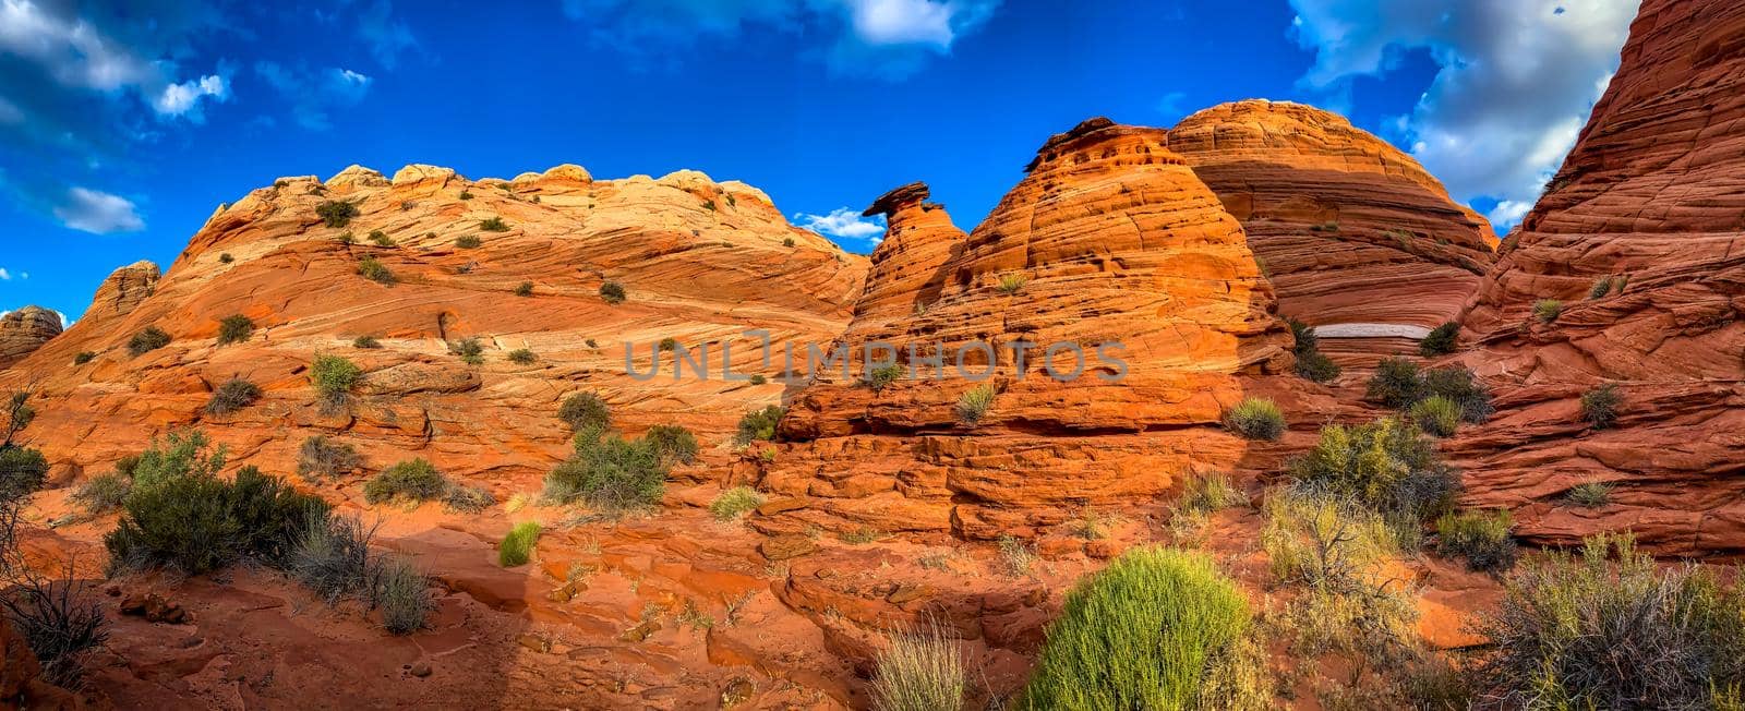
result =
[[[1630,0],[0,0],[0,310],[77,317],[220,202],[363,164],[743,179],[852,251],[914,179],[963,228],[1082,118],[1342,112],[1502,225]],[[848,209],[848,213],[843,213]]]

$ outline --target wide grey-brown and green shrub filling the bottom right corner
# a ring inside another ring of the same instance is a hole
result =
[[[1745,592],[1701,568],[1661,570],[1630,535],[1550,552],[1506,580],[1476,631],[1480,706],[1738,708]]]

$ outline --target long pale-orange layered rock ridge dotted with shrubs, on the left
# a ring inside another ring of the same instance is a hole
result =
[[[328,227],[318,207],[356,216]],[[476,246],[473,242],[476,239]],[[373,260],[393,284],[359,274]],[[89,314],[14,364],[7,387],[35,383],[28,436],[66,481],[98,474],[152,436],[202,427],[232,464],[295,471],[314,434],[359,444],[373,471],[426,457],[503,495],[537,488],[567,450],[558,403],[581,390],[637,432],[681,423],[719,443],[736,416],[775,403],[782,385],[722,382],[721,343],[738,371],[756,371],[757,338],[829,340],[848,322],[866,258],[790,227],[770,199],[701,173],[595,181],[576,166],[515,181],[471,181],[408,166],[393,179],[351,167],[319,181],[284,178],[220,207],[159,279],[140,263],[117,270]],[[606,303],[619,284],[628,300]],[[220,319],[255,322],[243,343],[216,345]],[[147,326],[169,345],[140,356]],[[356,349],[358,336],[380,349]],[[482,366],[450,354],[478,338]],[[708,343],[712,378],[626,375],[625,347],[647,371],[654,343]],[[740,343],[743,342],[743,343]],[[534,362],[506,356],[527,349]],[[73,366],[84,350],[96,359]],[[365,369],[352,406],[325,415],[309,364],[344,356]],[[213,389],[246,378],[263,399],[230,415],[204,411]],[[356,495],[356,491],[342,491]]]

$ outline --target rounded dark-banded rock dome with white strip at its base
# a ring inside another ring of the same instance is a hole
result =
[[[1335,359],[1415,352],[1426,329],[1459,314],[1494,260],[1485,218],[1337,113],[1225,103],[1183,118],[1169,150],[1242,221],[1279,314],[1321,326]]]

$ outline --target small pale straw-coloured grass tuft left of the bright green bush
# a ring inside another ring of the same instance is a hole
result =
[[[960,711],[965,690],[963,657],[939,624],[893,631],[874,662],[878,711]]]

